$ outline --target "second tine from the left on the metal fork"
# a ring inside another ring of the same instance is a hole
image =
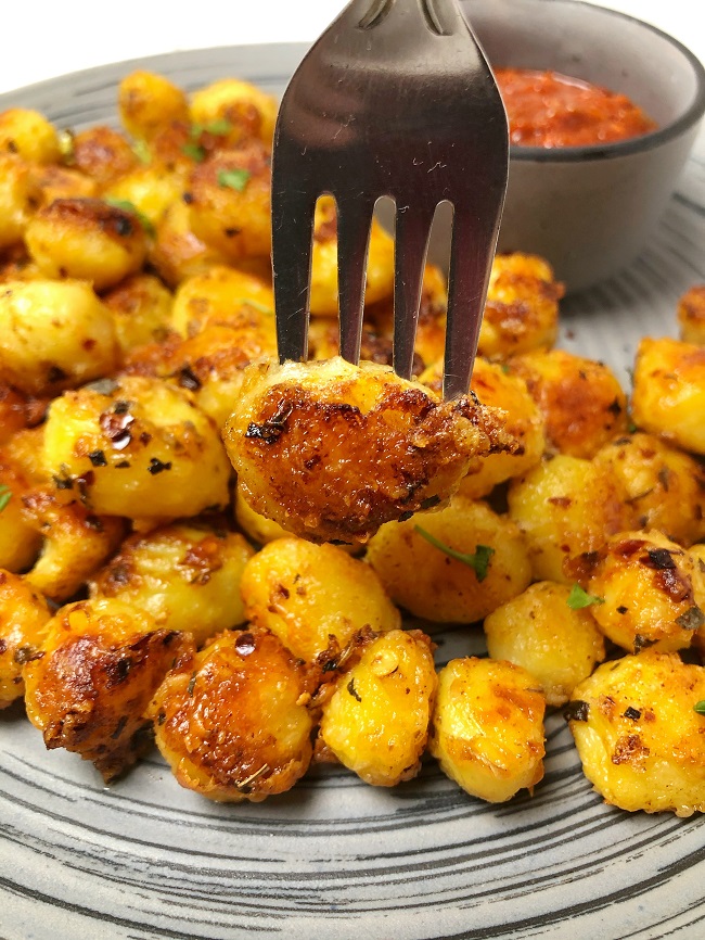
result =
[[[337,268],[341,356],[360,361],[364,277],[370,249],[372,202],[356,199],[337,204]]]

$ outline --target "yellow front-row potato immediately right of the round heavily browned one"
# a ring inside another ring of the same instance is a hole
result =
[[[421,770],[436,691],[432,644],[421,631],[374,639],[323,706],[320,736],[348,770],[394,787]]]

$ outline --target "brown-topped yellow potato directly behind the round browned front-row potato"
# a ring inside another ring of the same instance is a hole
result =
[[[146,610],[157,626],[190,633],[201,646],[245,622],[240,583],[249,544],[234,532],[178,523],[127,538],[90,581],[91,597]]]

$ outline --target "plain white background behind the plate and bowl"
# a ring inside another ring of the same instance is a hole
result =
[[[702,0],[601,5],[665,29],[705,61]],[[344,0],[0,0],[0,92],[141,55],[251,42],[312,40]]]

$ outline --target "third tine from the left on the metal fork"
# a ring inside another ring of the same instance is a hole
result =
[[[394,370],[410,379],[419,322],[423,268],[435,206],[397,206],[394,246]]]

